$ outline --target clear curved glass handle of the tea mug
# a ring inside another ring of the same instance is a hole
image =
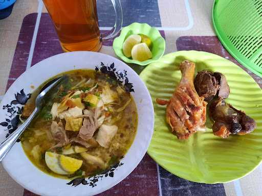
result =
[[[112,37],[115,37],[118,34],[118,32],[121,30],[123,24],[123,12],[122,12],[120,0],[111,0],[111,2],[114,6],[114,10],[116,13],[116,22],[112,30],[110,30],[110,32],[102,34],[102,40],[107,40],[107,39],[111,39]]]

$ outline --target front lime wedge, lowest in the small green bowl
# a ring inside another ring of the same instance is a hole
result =
[[[131,51],[132,58],[138,61],[145,61],[152,58],[152,53],[146,43],[134,45]]]

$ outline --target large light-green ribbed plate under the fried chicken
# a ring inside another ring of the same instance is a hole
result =
[[[255,119],[251,134],[214,136],[207,116],[206,132],[195,133],[188,140],[178,140],[165,121],[165,106],[156,98],[169,99],[181,79],[179,64],[183,60],[196,64],[198,71],[222,72],[230,86],[227,103]],[[170,173],[201,183],[225,183],[250,173],[262,159],[262,90],[243,69],[220,56],[198,51],[180,51],[163,56],[140,74],[155,108],[155,130],[148,154]]]

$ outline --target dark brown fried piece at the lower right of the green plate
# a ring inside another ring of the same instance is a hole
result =
[[[230,134],[245,135],[254,131],[256,127],[253,118],[235,109],[221,97],[210,104],[209,110],[215,121],[212,127],[213,134],[219,137],[226,138]]]

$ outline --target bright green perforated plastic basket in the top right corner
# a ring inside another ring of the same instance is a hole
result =
[[[262,0],[215,0],[212,19],[228,52],[262,77]]]

